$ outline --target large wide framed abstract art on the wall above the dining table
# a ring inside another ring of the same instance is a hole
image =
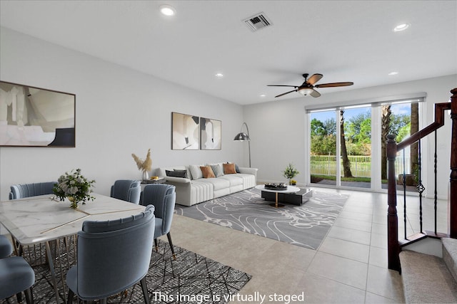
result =
[[[75,147],[76,95],[0,81],[0,147]]]

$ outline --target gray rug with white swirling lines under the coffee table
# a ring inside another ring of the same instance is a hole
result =
[[[314,191],[301,206],[270,206],[255,188],[194,206],[176,204],[176,214],[316,250],[348,199],[343,194]]]

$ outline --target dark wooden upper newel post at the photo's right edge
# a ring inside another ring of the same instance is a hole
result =
[[[451,90],[451,176],[449,194],[449,235],[457,239],[457,88]]]

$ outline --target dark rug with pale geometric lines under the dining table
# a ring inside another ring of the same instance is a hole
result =
[[[170,252],[169,243],[159,240],[159,252],[155,249],[152,252],[149,273],[146,275],[151,303],[228,303],[230,295],[237,294],[251,279],[247,273],[179,246],[174,246],[174,250],[176,260]],[[59,263],[56,266],[59,268]],[[34,266],[34,271],[34,303],[56,303],[49,266]],[[59,269],[56,271],[59,273]],[[61,282],[57,285],[61,303],[66,303]],[[65,292],[68,296],[68,287]],[[107,302],[144,303],[141,286],[136,284],[126,292],[109,298]],[[17,303],[16,296],[0,300],[0,303]],[[76,298],[73,303],[76,303]]]

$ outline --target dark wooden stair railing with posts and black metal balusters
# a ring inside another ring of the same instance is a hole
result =
[[[401,246],[405,245],[405,242],[398,241],[398,213],[397,213],[397,185],[395,176],[395,160],[398,151],[404,150],[406,147],[413,145],[418,142],[420,147],[420,140],[432,132],[435,132],[444,125],[444,115],[446,110],[451,110],[452,130],[451,130],[451,174],[450,174],[450,194],[449,194],[449,235],[453,239],[457,239],[457,88],[451,90],[451,103],[436,103],[435,104],[435,121],[424,127],[422,130],[411,135],[411,137],[405,140],[395,142],[395,135],[388,135],[386,142],[386,154],[388,162],[388,211],[387,211],[387,247],[388,247],[388,268],[396,271],[401,271],[400,259],[398,257]],[[436,135],[435,135],[436,136]],[[436,137],[435,137],[436,141]],[[436,145],[435,145],[436,147]],[[419,148],[420,149],[420,148]],[[435,150],[436,151],[436,150]],[[435,152],[435,184],[436,184],[436,152]],[[421,177],[419,177],[421,178]],[[422,186],[420,183],[418,187]],[[405,189],[405,174],[403,174],[403,189]],[[418,188],[418,192],[421,195],[423,189]],[[406,196],[406,190],[403,196]],[[436,188],[435,188],[435,231],[430,235],[434,237],[442,237],[442,234],[438,234],[436,231]],[[420,207],[421,208],[421,207]],[[404,206],[404,212],[406,214],[406,200]],[[421,235],[426,236],[422,231],[422,210],[420,211],[421,221]],[[406,231],[405,231],[405,239]],[[408,241],[415,241],[418,236],[408,237]]]

